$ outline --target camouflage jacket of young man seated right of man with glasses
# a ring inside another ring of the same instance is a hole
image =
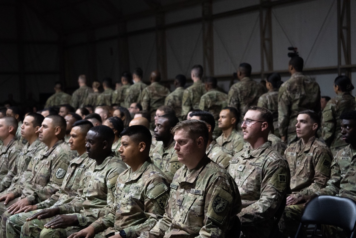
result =
[[[288,146],[284,157],[290,169],[290,189],[297,197],[312,195],[326,186],[333,154],[315,136],[302,145],[302,139]]]

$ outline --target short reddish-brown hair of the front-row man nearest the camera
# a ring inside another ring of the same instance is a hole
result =
[[[209,130],[206,123],[202,120],[185,120],[177,123],[172,129],[172,135],[176,134],[177,131],[183,130],[188,133],[188,137],[196,140],[200,136],[203,137],[204,145],[208,145],[209,140]]]

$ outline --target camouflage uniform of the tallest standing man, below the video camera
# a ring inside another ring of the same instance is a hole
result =
[[[287,145],[298,139],[298,112],[310,109],[319,113],[320,108],[320,88],[314,79],[297,72],[282,84],[278,91],[278,126],[279,134],[287,137]]]

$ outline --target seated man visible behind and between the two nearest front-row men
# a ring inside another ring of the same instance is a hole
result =
[[[172,158],[176,155],[171,130],[179,122],[178,118],[173,115],[163,115],[158,118],[155,128],[155,138],[158,141],[155,149],[152,151],[151,160],[160,170],[167,176],[169,182],[172,182],[174,173],[182,167],[182,163],[178,161],[178,157],[174,160]]]

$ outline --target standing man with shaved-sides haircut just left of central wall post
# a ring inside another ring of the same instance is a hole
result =
[[[200,64],[193,66],[190,77],[192,77],[193,85],[186,88],[183,92],[182,120],[187,118],[189,111],[199,108],[200,97],[206,93],[205,85],[203,81],[201,81],[203,78],[203,67]]]

